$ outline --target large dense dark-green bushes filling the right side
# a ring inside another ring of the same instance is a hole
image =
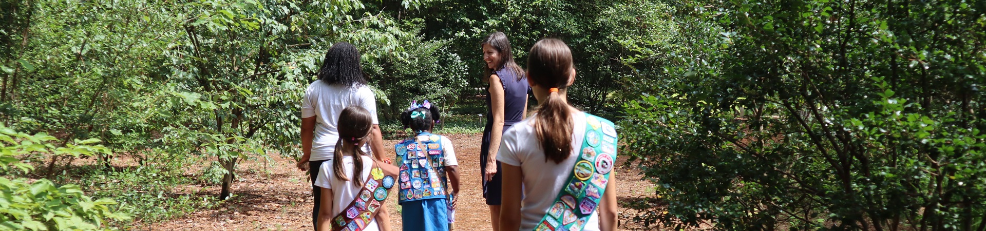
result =
[[[625,104],[668,213],[720,230],[978,230],[984,5],[687,1],[671,60]],[[654,55],[651,55],[654,56]],[[633,57],[629,57],[630,59]]]

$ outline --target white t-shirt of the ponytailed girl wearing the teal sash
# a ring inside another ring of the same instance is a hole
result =
[[[586,133],[586,114],[572,114],[575,123],[572,129],[572,153],[561,164],[555,164],[544,157],[544,150],[537,142],[537,134],[532,125],[534,118],[535,116],[528,116],[503,132],[503,141],[500,142],[500,151],[496,157],[505,165],[520,166],[524,174],[521,230],[533,230],[554,204],[555,197],[565,187],[575,162],[579,160],[579,150]],[[599,209],[593,211],[583,230],[599,230]]]

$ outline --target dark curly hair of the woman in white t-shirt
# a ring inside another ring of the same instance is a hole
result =
[[[363,86],[367,80],[360,65],[360,51],[352,43],[339,41],[325,51],[325,59],[318,69],[318,80],[325,84]]]

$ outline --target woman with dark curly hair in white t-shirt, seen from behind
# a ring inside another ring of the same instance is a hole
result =
[[[369,142],[361,149],[372,153],[378,160],[384,159],[383,135],[377,119],[377,99],[367,86],[360,65],[360,52],[349,42],[336,42],[325,52],[325,59],[317,73],[318,80],[309,85],[302,100],[302,159],[298,169],[309,171],[312,182],[318,178],[322,162],[332,159],[336,141],[339,140],[338,118],[349,106],[359,106],[370,113],[373,128]],[[372,151],[372,152],[371,152]],[[320,188],[312,185],[315,204],[312,209],[313,227],[317,226]],[[386,209],[380,211],[387,217]],[[388,220],[380,220],[389,223]]]

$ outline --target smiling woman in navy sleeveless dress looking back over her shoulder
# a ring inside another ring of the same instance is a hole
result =
[[[510,40],[501,32],[491,34],[481,43],[486,62],[483,82],[488,83],[486,106],[489,109],[479,151],[479,166],[483,179],[483,197],[490,207],[493,230],[499,230],[501,164],[497,149],[503,132],[528,113],[528,81],[514,61]],[[493,145],[490,145],[493,144]]]

